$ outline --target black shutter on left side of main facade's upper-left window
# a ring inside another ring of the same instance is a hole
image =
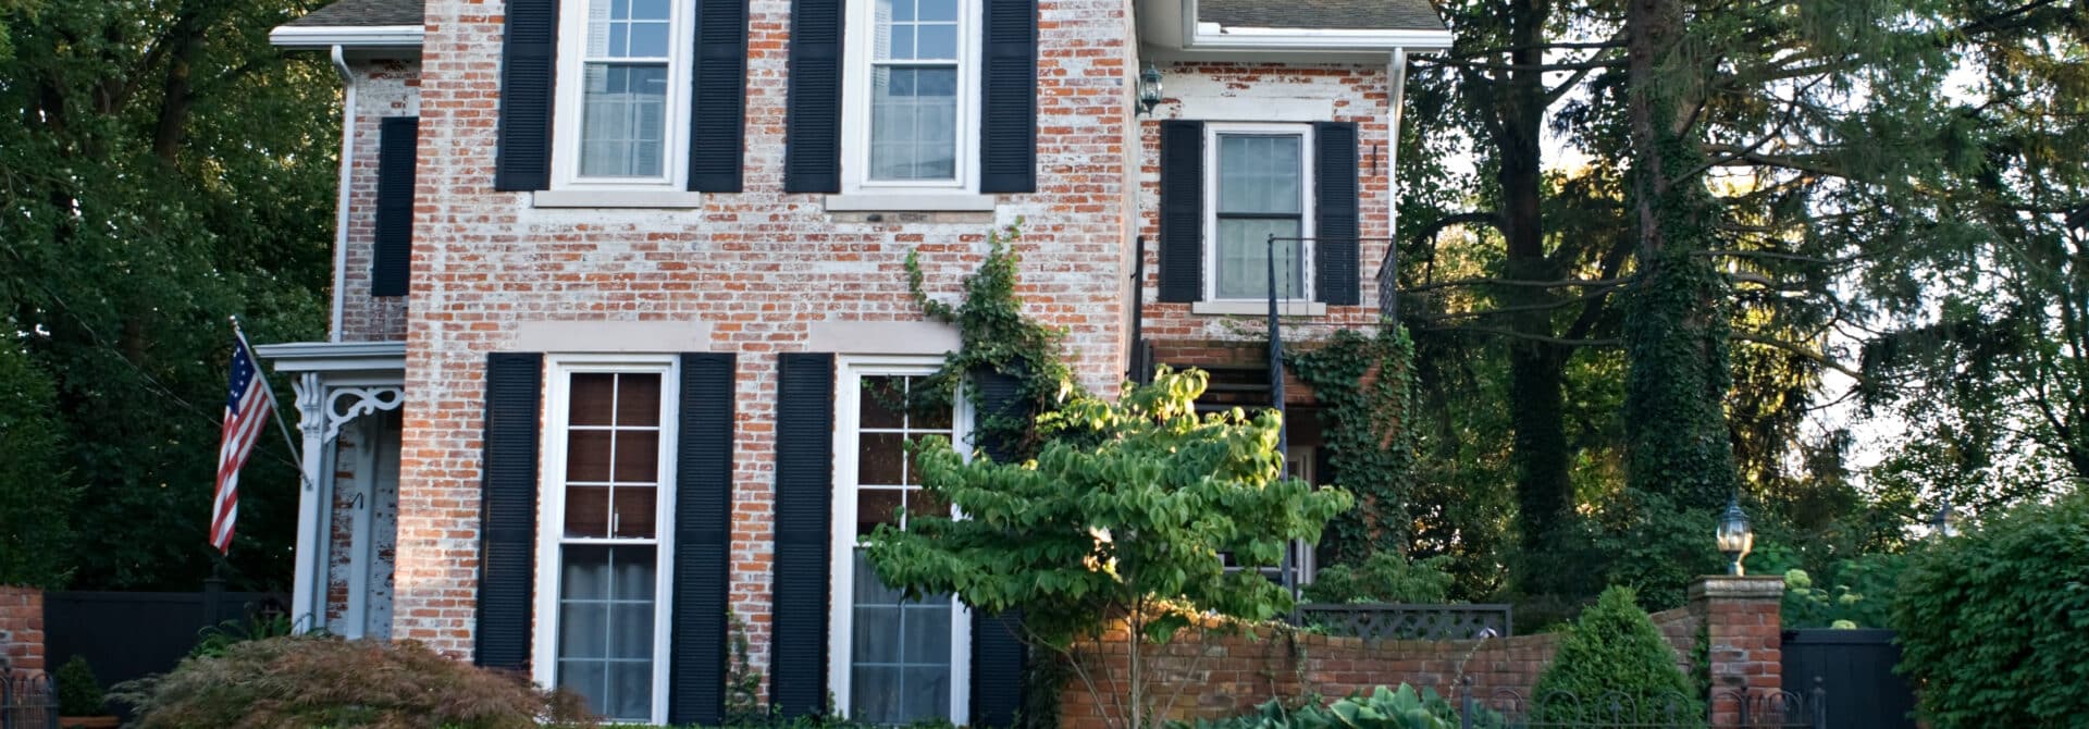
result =
[[[508,0],[501,38],[501,119],[495,190],[551,186],[551,81],[558,77],[558,0]]]

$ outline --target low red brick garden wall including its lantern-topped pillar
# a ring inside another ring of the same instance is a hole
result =
[[[1707,595],[1688,608],[1652,614],[1654,627],[1675,650],[1675,662],[1692,671],[1698,627],[1711,620],[1711,675],[1715,687],[1778,689],[1778,599],[1763,599],[1767,583],[1744,579],[1757,597],[1736,597],[1730,579],[1715,579]],[[1776,579],[1769,579],[1776,581]],[[1700,583],[1705,585],[1705,583]],[[1782,589],[1782,581],[1776,583]],[[1696,595],[1698,591],[1694,591]],[[1774,593],[1771,593],[1774,595]],[[1767,631],[1763,629],[1767,627]],[[1122,637],[1122,635],[1120,635]],[[1726,648],[1721,648],[1726,645]],[[1157,677],[1155,696],[1166,700],[1180,691],[1170,719],[1220,719],[1251,710],[1272,698],[1318,693],[1341,698],[1377,685],[1408,683],[1456,696],[1462,679],[1473,679],[1473,691],[1487,700],[1494,691],[1515,691],[1529,698],[1538,675],[1552,662],[1558,635],[1517,635],[1481,641],[1366,641],[1335,635],[1276,637],[1260,641],[1245,637],[1184,637],[1166,654],[1147,658],[1147,671]],[[1201,654],[1201,658],[1199,658]],[[1124,681],[1126,652],[1122,639],[1103,650],[1084,652],[1082,666],[1090,679],[1109,691],[1109,677]],[[1734,683],[1732,677],[1746,677]],[[1715,704],[1721,716],[1734,721],[1732,700]],[[1095,693],[1076,677],[1061,693],[1061,725],[1070,729],[1107,729],[1107,716]]]

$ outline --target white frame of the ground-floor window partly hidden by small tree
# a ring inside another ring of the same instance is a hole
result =
[[[834,516],[827,524],[827,693],[846,716],[850,706],[850,654],[854,648],[854,549],[856,549],[856,424],[863,420],[856,393],[865,376],[930,376],[942,368],[942,357],[859,357],[836,361],[834,399]],[[969,453],[971,405],[963,391],[953,399],[950,432],[959,453]],[[967,455],[969,457],[969,455]],[[971,723],[971,608],[950,597],[950,723]]]

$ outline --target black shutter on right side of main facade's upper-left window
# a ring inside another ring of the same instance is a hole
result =
[[[689,190],[740,192],[748,109],[748,0],[696,4]]]

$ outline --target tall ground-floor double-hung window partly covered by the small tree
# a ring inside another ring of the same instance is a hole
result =
[[[827,685],[848,719],[875,725],[965,723],[971,620],[953,595],[902,599],[871,568],[861,537],[911,514],[948,514],[921,491],[909,443],[963,447],[965,422],[921,393],[934,361],[846,361],[836,401],[834,606]]]

